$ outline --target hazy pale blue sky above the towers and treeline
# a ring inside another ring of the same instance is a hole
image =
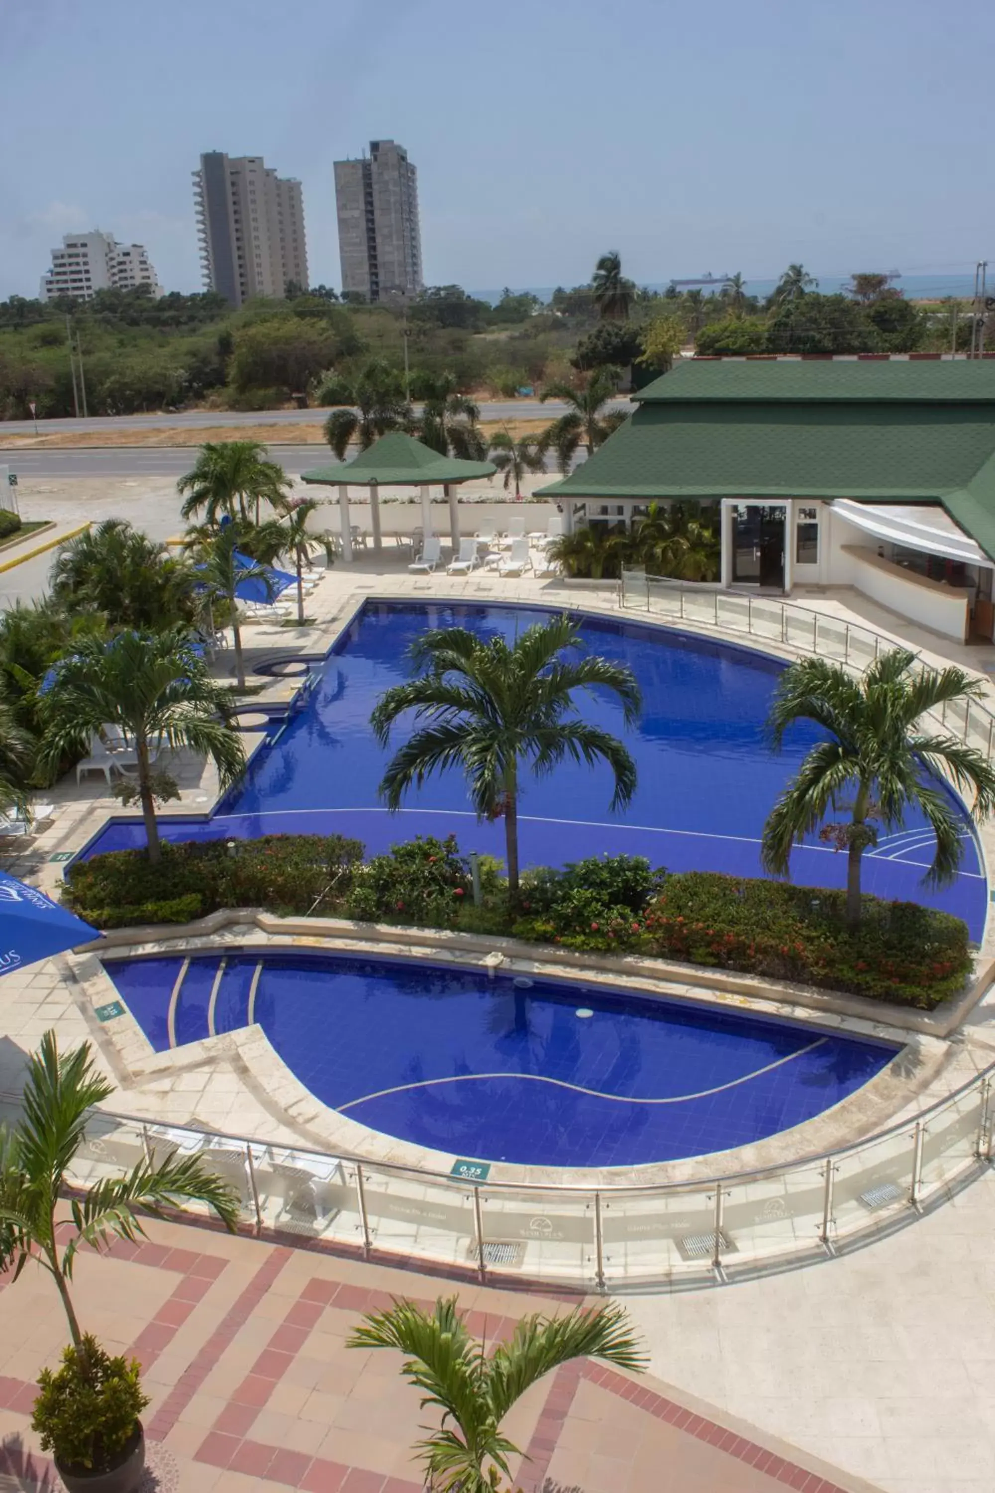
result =
[[[198,290],[191,170],[264,155],[339,285],[333,161],[419,172],[430,284],[995,260],[986,0],[0,0],[0,297],[61,234]]]

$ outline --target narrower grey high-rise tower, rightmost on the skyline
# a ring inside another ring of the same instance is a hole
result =
[[[403,145],[370,140],[370,155],[336,161],[342,288],[365,300],[416,296],[422,281],[418,170]]]

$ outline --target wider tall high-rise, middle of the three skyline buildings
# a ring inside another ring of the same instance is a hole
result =
[[[282,299],[288,281],[307,288],[300,182],[277,176],[261,155],[207,151],[194,172],[204,288],[233,306],[252,296]]]

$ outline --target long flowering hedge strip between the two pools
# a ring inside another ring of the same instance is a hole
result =
[[[480,885],[476,906],[470,864],[452,836],[395,845],[364,866],[358,841],[274,835],[234,850],[222,841],[163,845],[158,866],[140,851],[98,855],[70,869],[64,897],[98,927],[266,908],[635,953],[925,1009],[956,994],[971,970],[965,924],[911,902],[865,896],[853,929],[843,891],[718,872],[668,875],[638,855],[533,867],[522,873],[516,906],[489,858]]]

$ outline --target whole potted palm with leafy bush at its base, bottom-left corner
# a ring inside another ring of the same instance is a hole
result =
[[[55,1033],[46,1032],[28,1060],[21,1120],[0,1126],[0,1272],[13,1269],[16,1281],[28,1262],[48,1271],[72,1338],[63,1366],[39,1377],[31,1421],[69,1493],[133,1493],[145,1468],[140,1414],[148,1403],[137,1362],[110,1357],[79,1327],[69,1291],[79,1248],[137,1239],[145,1233],[139,1209],[158,1214],[170,1205],[203,1202],[231,1232],[239,1218],[228,1182],[197,1156],[173,1154],[143,1157],[130,1172],[101,1178],[61,1208],[87,1117],[110,1093],[90,1042],[60,1053]]]

